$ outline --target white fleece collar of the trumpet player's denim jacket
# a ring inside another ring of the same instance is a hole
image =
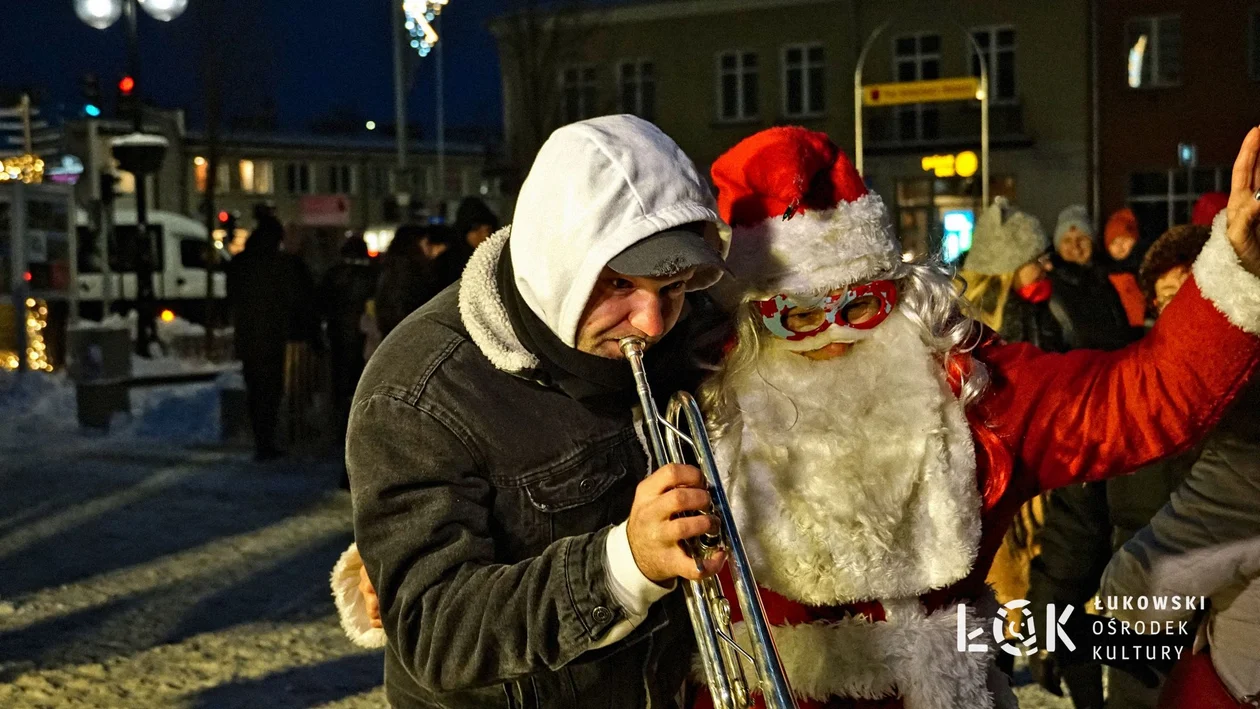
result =
[[[508,246],[512,225],[507,225],[472,252],[460,278],[460,319],[472,343],[496,369],[518,374],[538,366],[538,358],[520,344],[499,296],[496,269],[499,254]]]

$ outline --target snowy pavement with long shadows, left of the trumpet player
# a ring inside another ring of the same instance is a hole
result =
[[[64,379],[0,384],[0,706],[384,706],[381,652],[329,596],[352,538],[334,461],[217,443],[222,383],[134,398],[107,436],[77,429]]]

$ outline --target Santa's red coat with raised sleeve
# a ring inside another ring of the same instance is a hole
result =
[[[989,337],[971,356],[992,382],[968,409],[982,491],[980,545],[971,573],[920,598],[930,616],[973,604],[1019,506],[1041,491],[1131,472],[1193,446],[1221,418],[1260,361],[1260,337],[1244,332],[1191,280],[1140,341],[1119,351],[1050,354]],[[949,363],[968,366],[965,358]],[[732,621],[741,613],[730,576]],[[774,626],[861,617],[885,622],[877,601],[815,607],[761,589]],[[829,657],[843,672],[845,657]],[[941,657],[948,664],[948,657]],[[751,679],[751,678],[750,678]],[[791,670],[789,670],[791,679]],[[711,706],[704,693],[696,706]],[[760,704],[759,704],[760,706]],[[801,709],[900,709],[901,699],[805,700]]]

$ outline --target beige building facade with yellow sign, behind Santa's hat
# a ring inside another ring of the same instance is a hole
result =
[[[825,131],[852,155],[854,71],[882,28],[863,65],[867,84],[969,77],[979,73],[979,55],[988,62],[994,195],[1012,196],[1048,229],[1060,209],[1087,201],[1087,0],[672,0],[536,24],[576,38],[541,69],[551,77],[515,65],[513,18],[494,28],[509,150],[529,157],[538,139],[522,135],[538,133],[539,123],[621,112],[654,121],[702,170],[775,125]],[[538,101],[544,92],[534,84],[546,81],[554,96]],[[863,125],[866,178],[893,212],[907,251],[942,248],[951,215],[974,223],[979,175],[939,178],[924,159],[979,154],[979,102],[872,107]]]

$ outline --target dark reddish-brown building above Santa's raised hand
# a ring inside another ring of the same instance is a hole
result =
[[[1109,0],[1099,39],[1101,212],[1131,207],[1149,242],[1228,191],[1260,125],[1260,3]]]

